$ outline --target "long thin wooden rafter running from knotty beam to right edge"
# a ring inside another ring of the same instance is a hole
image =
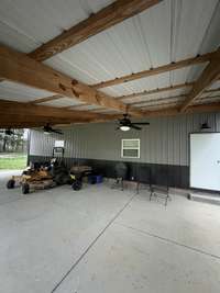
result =
[[[116,78],[116,79],[102,81],[102,82],[97,83],[97,84],[91,84],[91,87],[94,89],[101,89],[101,88],[112,87],[112,86],[124,83],[124,82],[129,82],[129,81],[132,81],[132,80],[135,80],[135,79],[164,74],[164,72],[167,72],[167,71],[170,71],[170,70],[176,70],[176,69],[184,68],[184,67],[191,66],[191,65],[196,65],[196,64],[207,63],[215,55],[216,55],[216,52],[215,53],[207,53],[205,55],[199,55],[199,56],[194,57],[194,58],[188,58],[188,59],[184,59],[184,60],[180,60],[180,61],[170,63],[170,64],[163,65],[163,66],[160,66],[160,67],[156,67],[156,68],[151,68],[148,70],[143,70],[141,72],[136,72],[136,74],[119,77],[119,78]]]

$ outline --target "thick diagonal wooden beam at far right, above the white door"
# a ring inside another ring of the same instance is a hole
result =
[[[189,106],[189,104],[197,99],[212,82],[217,81],[220,77],[220,49],[213,54],[210,63],[201,72],[198,80],[195,82],[191,91],[187,95],[179,111],[184,112]]]

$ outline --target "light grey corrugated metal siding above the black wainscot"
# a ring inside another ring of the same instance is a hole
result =
[[[198,132],[208,122],[211,131],[220,132],[220,113],[187,114],[176,117],[148,120],[151,125],[141,132],[116,131],[116,123],[85,124],[64,128],[64,136],[31,132],[30,155],[52,156],[55,139],[65,139],[65,157],[88,159],[121,159],[121,139],[140,138],[141,158],[128,159],[139,162],[188,165],[188,134]],[[123,159],[125,160],[125,159]]]

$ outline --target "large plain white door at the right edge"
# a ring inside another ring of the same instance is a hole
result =
[[[190,188],[220,191],[220,133],[190,134]]]

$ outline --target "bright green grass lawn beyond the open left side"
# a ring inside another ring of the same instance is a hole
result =
[[[0,156],[0,170],[24,169],[26,167],[26,155],[11,154]]]

